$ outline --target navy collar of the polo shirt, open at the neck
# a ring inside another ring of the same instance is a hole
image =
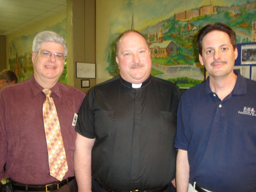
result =
[[[241,74],[237,70],[234,70],[234,73],[237,75],[237,80],[236,80],[234,89],[232,91],[232,95],[244,95],[246,93],[245,78],[243,76],[241,76]],[[204,84],[204,93],[205,94],[212,93],[209,82],[210,82],[209,77],[207,77],[205,84]]]

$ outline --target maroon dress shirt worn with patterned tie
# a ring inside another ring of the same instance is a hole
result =
[[[57,181],[49,173],[42,114],[45,100],[43,89],[36,83],[35,77],[31,77],[28,81],[0,91],[0,180],[10,177],[24,184]],[[51,90],[66,150],[66,179],[74,176],[76,131],[72,122],[85,93],[63,83],[57,83]]]

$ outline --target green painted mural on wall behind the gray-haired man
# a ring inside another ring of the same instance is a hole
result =
[[[61,22],[58,22],[54,26],[45,28],[44,31],[54,31],[66,39],[66,23],[67,19],[63,19]],[[26,36],[19,36],[14,38],[7,46],[7,62],[10,66],[10,70],[15,72],[17,75],[19,82],[29,79],[33,74],[34,70],[32,63],[32,43],[33,38],[38,32],[40,31],[36,31],[35,33],[31,33]],[[65,68],[62,76],[60,77],[60,82],[67,83],[67,80],[65,79],[66,74],[67,70]]]

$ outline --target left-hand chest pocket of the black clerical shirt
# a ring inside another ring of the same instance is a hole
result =
[[[114,111],[95,111],[95,134],[102,138],[113,134]]]

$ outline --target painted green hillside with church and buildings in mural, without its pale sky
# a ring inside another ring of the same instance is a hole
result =
[[[131,13],[131,29],[134,29],[135,13]],[[216,6],[209,1],[204,6],[177,12],[168,19],[140,29],[150,46],[152,75],[171,81],[180,88],[189,88],[205,79],[204,67],[198,61],[196,33],[209,22],[224,22],[237,34],[237,43],[256,42],[256,1],[244,4]],[[136,29],[136,28],[135,28]],[[115,61],[115,40],[110,41],[108,67],[111,76],[118,76]]]

